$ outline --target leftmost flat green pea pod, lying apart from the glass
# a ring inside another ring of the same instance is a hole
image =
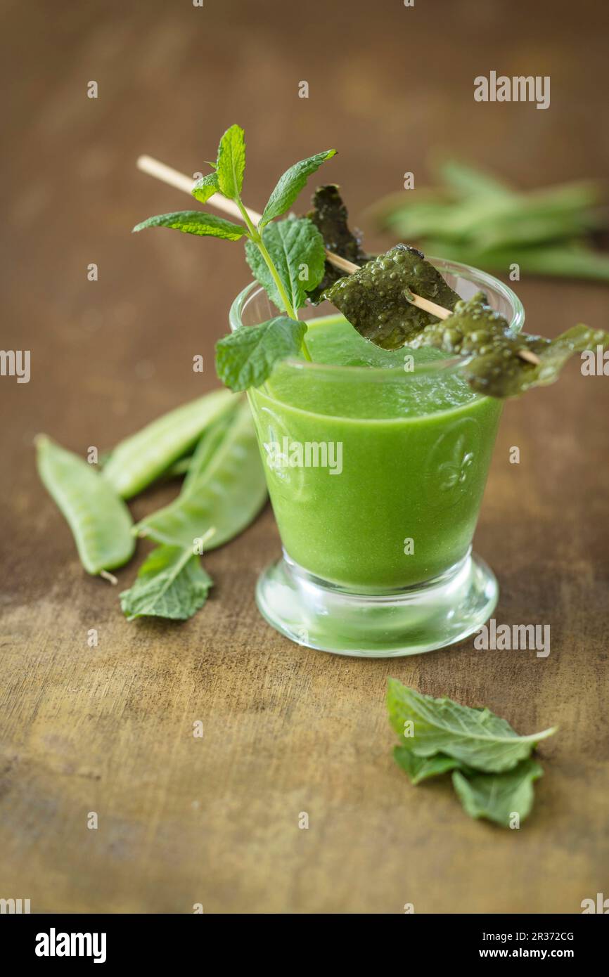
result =
[[[38,473],[65,516],[87,573],[122,567],[135,549],[133,520],[109,483],[83,458],[45,435],[36,439]]]

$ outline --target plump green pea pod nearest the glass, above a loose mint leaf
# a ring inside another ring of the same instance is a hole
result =
[[[215,549],[245,529],[264,505],[267,488],[248,404],[207,431],[193,456],[182,491],[135,528],[156,542],[193,548],[204,532]]]

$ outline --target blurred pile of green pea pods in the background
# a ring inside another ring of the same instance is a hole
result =
[[[604,192],[582,181],[517,191],[483,170],[448,159],[436,167],[437,189],[401,191],[370,208],[376,224],[425,254],[506,275],[609,281],[609,254],[591,235],[607,229]]]

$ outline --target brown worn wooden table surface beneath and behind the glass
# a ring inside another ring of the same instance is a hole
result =
[[[572,363],[507,405],[476,533],[500,579],[497,620],[549,624],[548,658],[472,640],[393,661],[296,647],[254,605],[279,551],[269,508],[206,560],[216,585],[202,612],[127,623],[117,588],[82,571],[32,450],[41,430],[76,451],[109,447],[217,384],[212,347],[247,278],[242,252],[131,236],[186,203],[135,171],[140,152],[195,172],[239,121],[257,208],[286,165],[337,146],[327,177],[370,245],[382,239],[367,205],[407,170],[422,185],[434,151],[523,187],[603,176],[602,5],[461,0],[441,18],[418,0],[2,7],[2,346],[31,350],[31,380],[0,378],[0,897],[30,898],[32,912],[578,913],[609,894],[607,377]],[[550,108],[476,106],[473,77],[492,68],[550,74]],[[606,286],[518,291],[531,331],[607,327]],[[134,514],[173,491],[148,492]],[[450,784],[410,786],[391,756],[390,675],[489,705],[523,733],[559,723],[520,830],[471,821]]]

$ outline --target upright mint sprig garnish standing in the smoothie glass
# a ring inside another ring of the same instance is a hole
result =
[[[289,319],[297,321],[298,309],[307,301],[308,292],[316,289],[324,276],[324,238],[307,218],[287,219],[279,224],[271,222],[285,213],[309,176],[335,152],[335,149],[326,149],[290,166],[271,193],[255,227],[241,200],[245,137],[239,125],[232,125],[220,140],[215,164],[209,163],[212,172],[200,177],[192,192],[200,203],[206,203],[214,193],[222,193],[237,204],[245,226],[242,228],[224,218],[190,210],[150,217],[133,230],[162,227],[225,240],[247,238],[246,260],[254,276],[277,308]],[[226,382],[233,390],[245,390],[252,383],[264,382],[277,361],[298,352],[293,349],[296,336],[300,338],[303,356],[311,359],[304,339],[306,325],[302,323],[298,329],[287,329],[284,323],[278,326],[277,322],[278,319],[271,319],[271,323],[275,323],[272,328],[269,328],[270,323],[263,322],[258,327],[259,334],[252,340],[229,341],[230,337],[227,337],[222,345],[219,344],[219,376],[221,379],[227,376]]]

